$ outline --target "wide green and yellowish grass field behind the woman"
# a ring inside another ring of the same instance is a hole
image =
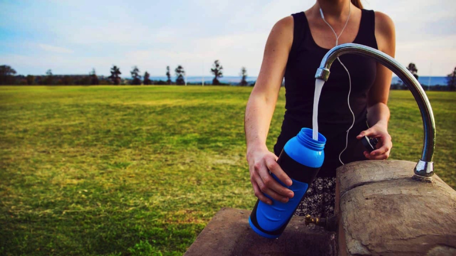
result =
[[[220,208],[251,209],[250,90],[0,87],[0,255],[181,255]],[[456,188],[456,93],[429,98],[435,173]],[[389,106],[391,158],[416,162],[415,100],[392,91]]]

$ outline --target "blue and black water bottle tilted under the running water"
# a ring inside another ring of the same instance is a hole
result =
[[[285,144],[277,163],[291,178],[293,184],[286,186],[274,174],[271,175],[282,186],[292,190],[295,196],[287,203],[282,203],[266,195],[272,200],[272,205],[257,200],[249,217],[250,227],[257,234],[267,238],[277,238],[285,230],[309,184],[323,164],[325,143],[326,138],[321,133],[318,133],[318,140],[314,140],[312,129],[302,128]]]

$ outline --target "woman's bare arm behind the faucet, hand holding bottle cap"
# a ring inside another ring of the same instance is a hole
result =
[[[388,15],[375,12],[375,38],[378,50],[394,58],[396,38],[394,23]],[[388,133],[389,108],[387,106],[389,87],[391,86],[392,72],[377,63],[377,75],[368,92],[368,124],[367,130],[361,132],[357,138],[364,136],[378,138],[377,149],[370,154],[364,151],[367,159],[387,159],[393,143]]]

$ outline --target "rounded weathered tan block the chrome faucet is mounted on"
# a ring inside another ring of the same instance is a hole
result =
[[[412,179],[414,167],[388,160],[337,169],[340,255],[455,255],[456,191],[437,175]]]

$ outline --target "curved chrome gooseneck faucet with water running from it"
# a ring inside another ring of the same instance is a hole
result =
[[[407,85],[410,92],[412,92],[415,97],[415,101],[418,103],[424,127],[423,153],[421,154],[421,159],[415,166],[415,177],[419,179],[427,179],[428,177],[434,175],[432,158],[434,157],[435,147],[435,120],[429,99],[420,83],[403,65],[391,56],[371,47],[353,43],[338,45],[329,50],[321,60],[320,67],[316,71],[315,78],[324,80],[325,82],[328,81],[329,69],[332,62],[334,62],[338,56],[346,53],[353,53],[373,58],[383,64],[383,66],[389,68],[404,82],[405,85]]]

